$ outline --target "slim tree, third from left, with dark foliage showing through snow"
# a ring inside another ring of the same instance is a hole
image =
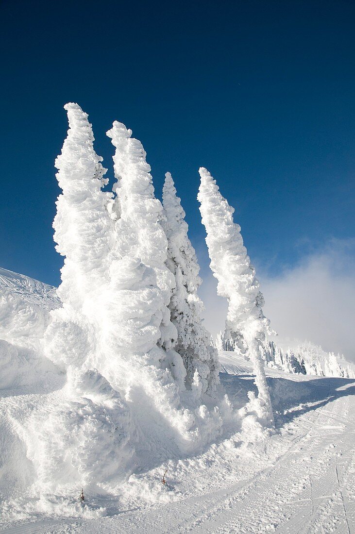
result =
[[[167,265],[176,281],[169,304],[171,320],[178,332],[175,350],[184,360],[187,387],[191,389],[197,370],[202,392],[212,394],[219,380],[218,354],[209,332],[202,326],[203,303],[197,294],[200,268],[170,172],[165,174],[163,208],[163,228],[168,238]]]

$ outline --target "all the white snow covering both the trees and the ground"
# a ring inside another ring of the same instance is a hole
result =
[[[234,209],[201,168],[228,301],[212,342],[177,182],[156,199],[115,121],[105,191],[88,115],[65,109],[61,284],[0,269],[1,531],[355,532],[354,366],[268,339]]]

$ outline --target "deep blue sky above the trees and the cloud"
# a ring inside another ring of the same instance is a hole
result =
[[[52,219],[62,106],[141,140],[160,197],[170,170],[207,263],[196,194],[207,167],[250,256],[277,274],[304,245],[354,235],[355,3],[0,3],[0,265],[59,283]]]

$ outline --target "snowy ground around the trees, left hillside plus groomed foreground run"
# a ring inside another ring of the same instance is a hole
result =
[[[33,324],[40,336],[46,310],[58,305],[54,289],[9,271],[0,274],[7,299],[22,295],[19,302],[39,314]],[[49,399],[60,402],[65,375],[34,356],[37,345],[26,332],[9,332],[4,342],[18,351],[10,364],[20,362],[27,381],[12,380],[0,390],[1,532],[355,532],[355,381],[269,367],[276,424],[269,437],[253,421],[231,421],[199,456],[158,461],[132,475],[115,496],[85,494],[80,504],[78,488],[76,507],[38,512],[23,498],[32,474],[25,422]],[[222,385],[241,408],[254,389],[250,362],[232,352],[220,352],[219,360]]]

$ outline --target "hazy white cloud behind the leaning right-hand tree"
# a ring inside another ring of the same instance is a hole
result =
[[[332,239],[278,276],[257,268],[264,312],[281,341],[309,340],[355,360],[354,252],[355,239]],[[215,335],[224,327],[227,305],[216,294],[212,274],[203,274],[200,294],[206,306],[205,324]]]

